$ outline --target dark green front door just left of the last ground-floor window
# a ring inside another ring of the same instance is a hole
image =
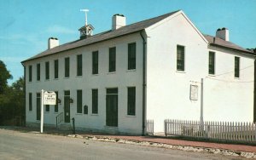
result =
[[[118,89],[107,89],[106,125],[118,127]]]

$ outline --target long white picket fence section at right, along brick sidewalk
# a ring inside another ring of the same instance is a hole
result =
[[[256,142],[256,125],[241,122],[204,122],[165,120],[165,134],[201,137],[217,140]]]

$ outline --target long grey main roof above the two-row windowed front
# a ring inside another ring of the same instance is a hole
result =
[[[174,11],[174,12],[169,13],[169,14],[163,14],[163,15],[160,15],[158,17],[154,17],[152,19],[143,20],[143,21],[140,21],[140,22],[128,25],[128,26],[123,26],[123,27],[121,27],[117,30],[114,30],[114,31],[112,31],[112,30],[104,31],[104,32],[96,34],[92,37],[87,37],[86,39],[82,39],[82,40],[79,39],[79,40],[73,41],[71,43],[65,43],[65,44],[57,46],[53,49],[47,49],[44,52],[33,56],[32,58],[29,58],[27,60],[22,61],[21,63],[24,63],[24,62],[29,61],[29,60],[38,59],[40,57],[44,57],[44,56],[47,56],[49,54],[56,54],[56,53],[60,53],[62,51],[66,51],[66,50],[69,50],[69,49],[75,49],[75,48],[90,45],[90,44],[93,44],[93,43],[99,43],[99,42],[102,42],[102,41],[106,41],[108,39],[112,39],[112,38],[115,38],[115,37],[121,37],[121,36],[125,36],[125,35],[135,33],[135,32],[138,32],[138,31],[143,31],[148,26],[152,26],[152,25],[154,25],[154,23],[157,23],[160,20],[164,20],[166,17],[168,17],[172,14],[175,14],[178,11],[179,10]]]

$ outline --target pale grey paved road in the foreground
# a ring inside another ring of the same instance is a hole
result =
[[[0,159],[243,159],[0,129]]]

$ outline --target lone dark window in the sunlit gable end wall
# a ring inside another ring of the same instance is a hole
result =
[[[177,71],[184,71],[185,47],[177,45]]]

